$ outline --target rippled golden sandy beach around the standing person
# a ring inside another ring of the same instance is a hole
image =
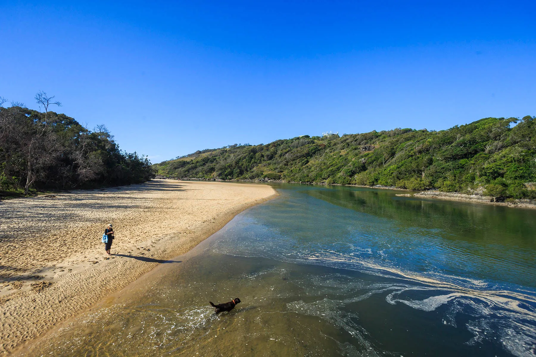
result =
[[[274,195],[267,185],[152,180],[0,202],[0,353],[188,252]],[[108,223],[113,256],[100,241]]]

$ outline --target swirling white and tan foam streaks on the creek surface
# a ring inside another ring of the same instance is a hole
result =
[[[473,338],[467,341],[468,344],[480,343],[483,340],[498,340],[504,349],[513,355],[528,357],[536,354],[536,293],[534,291],[500,286],[481,279],[453,276],[441,272],[405,271],[390,265],[389,261],[378,261],[374,256],[370,257],[374,253],[370,252],[370,249],[355,249],[350,253],[341,253],[334,249],[300,249],[272,254],[277,250],[267,249],[262,245],[249,247],[245,244],[241,246],[240,252],[228,247],[233,247],[233,245],[217,245],[215,250],[229,255],[260,256],[289,263],[324,265],[396,279],[399,283],[370,285],[367,292],[351,299],[341,300],[340,303],[360,301],[373,294],[386,293],[385,301],[390,304],[403,303],[426,312],[446,305],[448,308],[443,317],[444,324],[456,326],[457,315],[471,316],[471,321],[465,326],[473,333]],[[380,255],[385,254],[382,251]],[[412,292],[425,293],[429,296],[424,299],[401,297],[401,295],[411,295]],[[295,309],[296,306],[291,304],[289,308]],[[312,307],[308,309],[307,314],[314,314],[315,310]],[[334,323],[343,327],[343,322]],[[352,325],[348,324],[344,325],[344,329],[355,330]],[[357,333],[355,336],[358,336],[356,338],[361,344],[362,336]]]

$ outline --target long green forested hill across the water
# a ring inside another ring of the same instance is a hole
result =
[[[153,165],[166,177],[396,186],[536,198],[535,117],[443,131],[394,129],[197,151]],[[516,125],[517,124],[517,125]]]

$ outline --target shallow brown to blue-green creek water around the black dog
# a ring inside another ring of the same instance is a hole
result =
[[[536,210],[274,188],[26,355],[536,354]]]

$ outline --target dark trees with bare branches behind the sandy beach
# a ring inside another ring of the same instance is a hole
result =
[[[120,150],[105,126],[92,132],[50,111],[61,106],[54,97],[40,92],[35,98],[44,112],[20,103],[5,108],[0,97],[0,193],[129,185],[154,177],[148,159]]]

